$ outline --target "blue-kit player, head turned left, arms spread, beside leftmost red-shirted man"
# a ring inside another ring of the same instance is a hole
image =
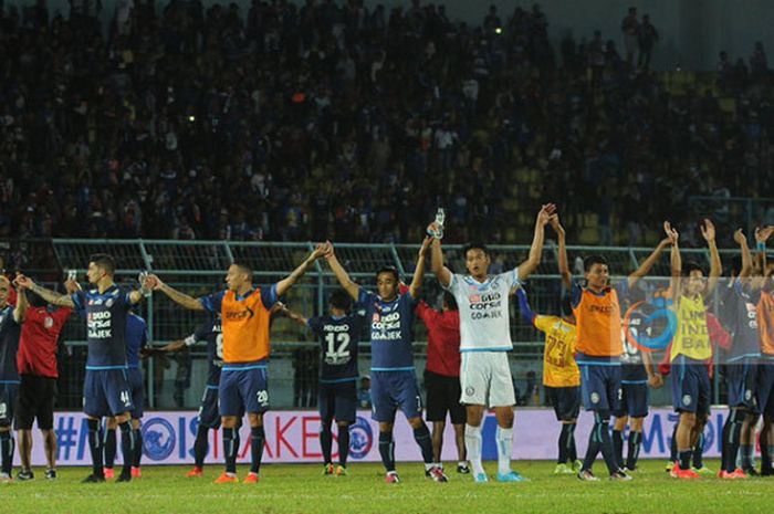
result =
[[[17,276],[19,287],[32,291],[46,302],[83,311],[86,316],[88,356],[83,390],[83,410],[88,422],[92,474],[84,482],[104,482],[102,418],[114,416],[121,429],[122,452],[133,455],[135,432],[132,430],[132,390],[126,369],[126,324],[129,310],[149,293],[143,287],[132,291],[115,284],[115,261],[100,253],[88,260],[86,273],[90,291],[59,294]],[[132,459],[125,459],[118,482],[132,480]]]

